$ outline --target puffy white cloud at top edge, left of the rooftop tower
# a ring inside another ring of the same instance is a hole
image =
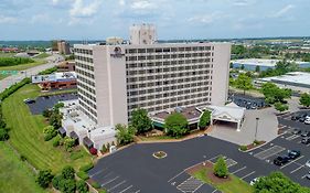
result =
[[[86,4],[84,0],[74,0],[72,9],[70,10],[70,15],[72,18],[93,17],[95,13],[97,13],[99,6],[99,0],[94,0],[88,4]]]

